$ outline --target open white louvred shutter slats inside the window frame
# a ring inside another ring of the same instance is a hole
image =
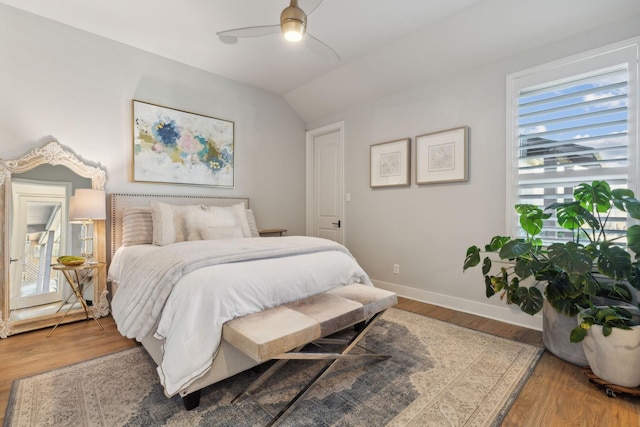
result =
[[[520,91],[518,203],[570,201],[573,187],[594,180],[628,187],[628,75],[625,64]],[[620,213],[608,224],[624,230],[625,222]],[[563,240],[564,233],[543,237]]]

